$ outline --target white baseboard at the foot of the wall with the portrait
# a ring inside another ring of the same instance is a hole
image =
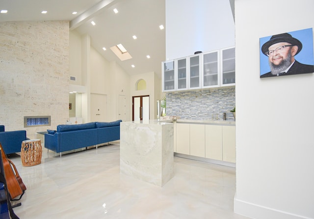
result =
[[[313,219],[242,201],[236,198],[236,194],[234,200],[234,212],[238,215],[243,215],[252,219]]]

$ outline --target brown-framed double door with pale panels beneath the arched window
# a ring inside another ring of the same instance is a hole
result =
[[[132,121],[149,120],[149,95],[132,97]]]

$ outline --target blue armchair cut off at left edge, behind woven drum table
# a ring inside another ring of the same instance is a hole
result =
[[[4,131],[4,126],[0,126],[0,143],[5,154],[21,152],[22,141],[28,139],[26,131]]]

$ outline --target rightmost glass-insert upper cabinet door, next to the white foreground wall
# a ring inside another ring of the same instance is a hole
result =
[[[235,48],[222,50],[222,84],[231,85],[235,84]]]

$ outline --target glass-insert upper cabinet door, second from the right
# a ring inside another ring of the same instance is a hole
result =
[[[203,54],[203,87],[219,85],[219,51]]]

